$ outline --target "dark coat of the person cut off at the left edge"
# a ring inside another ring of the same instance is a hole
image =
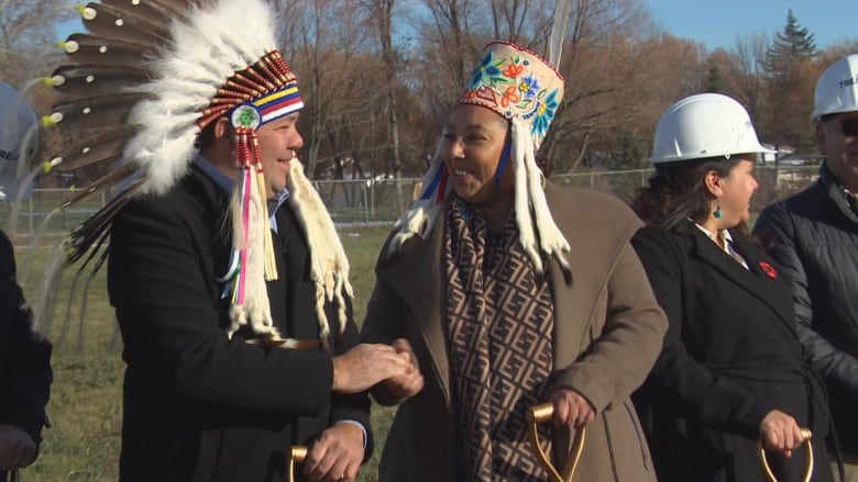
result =
[[[33,332],[32,313],[15,280],[12,244],[0,231],[0,424],[42,441],[51,391],[51,344]],[[0,480],[6,472],[0,471]]]

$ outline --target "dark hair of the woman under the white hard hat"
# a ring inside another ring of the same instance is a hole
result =
[[[688,220],[700,223],[711,214],[706,172],[714,170],[719,177],[727,177],[741,160],[741,156],[734,156],[656,165],[649,187],[638,189],[631,209],[647,227],[686,232],[693,226]],[[744,225],[737,227],[747,232]]]

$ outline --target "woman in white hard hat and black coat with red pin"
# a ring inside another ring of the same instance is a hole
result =
[[[662,114],[656,173],[632,200],[632,238],[670,326],[632,400],[660,481],[800,480],[810,428],[825,438],[822,380],[805,367],[793,305],[774,261],[748,234],[755,158],[768,153],[736,100],[702,93]],[[812,444],[813,481],[829,481]]]

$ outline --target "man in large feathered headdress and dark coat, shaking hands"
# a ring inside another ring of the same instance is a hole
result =
[[[372,445],[363,391],[414,367],[359,345],[349,264],[297,158],[304,103],[274,12],[196,3],[90,3],[91,35],[65,43],[76,64],[52,78],[68,100],[47,123],[108,125],[46,167],[108,161],[92,189],[123,186],[67,242],[75,260],[110,234],[120,479],[283,480],[307,445],[310,480],[352,481]]]

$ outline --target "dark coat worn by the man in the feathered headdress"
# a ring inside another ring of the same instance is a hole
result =
[[[290,445],[341,419],[370,428],[365,394],[331,392],[331,355],[250,345],[241,332],[228,338],[217,281],[230,254],[226,206],[227,194],[195,168],[113,223],[108,287],[128,365],[122,481],[284,480]],[[276,216],[274,323],[284,336],[316,339],[307,244],[286,204]],[[331,337],[337,354],[358,343],[349,314],[343,337]]]

